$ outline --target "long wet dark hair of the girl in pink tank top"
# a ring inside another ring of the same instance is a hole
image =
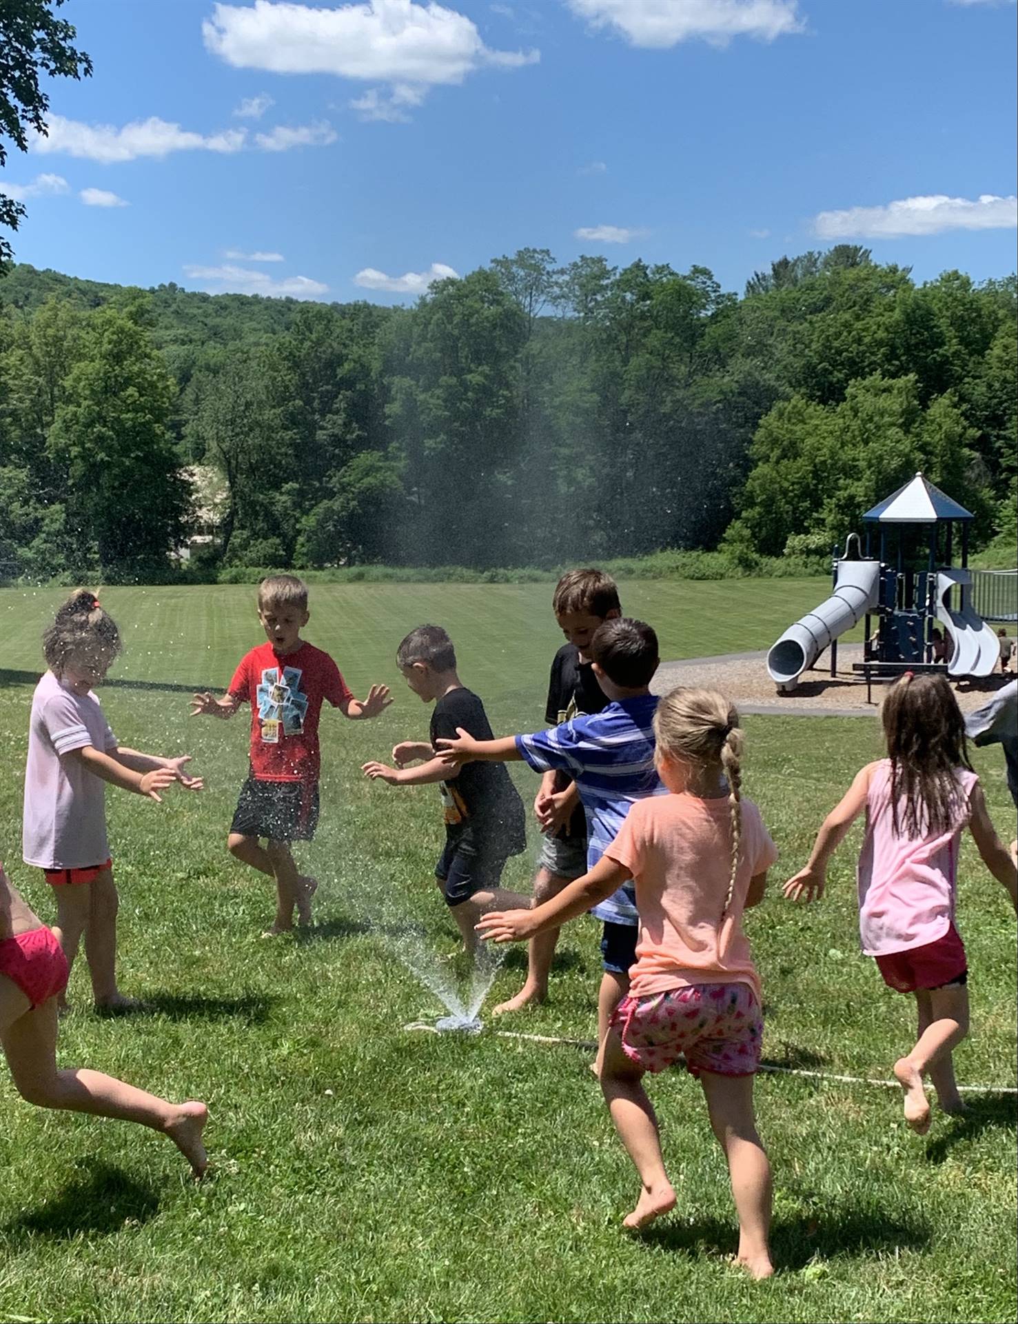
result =
[[[948,678],[905,671],[888,690],[880,720],[891,760],[895,833],[903,826],[902,801],[904,830],[909,837],[950,831],[965,806],[957,769],[972,772],[972,764],[965,719]]]

